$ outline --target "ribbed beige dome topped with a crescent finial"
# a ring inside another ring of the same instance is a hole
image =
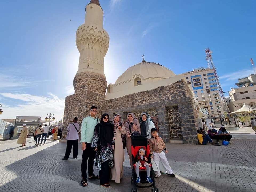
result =
[[[131,81],[135,76],[140,75],[143,79],[166,79],[174,77],[175,73],[156,63],[142,61],[127,69],[115,84]]]

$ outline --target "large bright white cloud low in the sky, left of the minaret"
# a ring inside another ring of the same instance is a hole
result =
[[[17,115],[41,116],[41,119],[44,119],[48,113],[53,113],[56,119],[63,119],[65,99],[52,93],[48,93],[47,96],[14,93],[0,93],[0,95],[9,99],[25,101],[16,106],[2,103],[3,113],[0,116],[2,119],[14,119]]]

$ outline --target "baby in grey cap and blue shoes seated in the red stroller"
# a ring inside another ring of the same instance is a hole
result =
[[[146,152],[143,149],[143,147],[141,147],[139,149],[139,152],[136,155],[135,158],[135,165],[136,165],[136,175],[137,175],[137,179],[136,179],[136,183],[140,183],[141,179],[139,177],[139,168],[144,166],[146,168],[147,171],[147,182],[152,183],[152,179],[150,178],[150,164],[149,164],[149,160],[146,157]]]

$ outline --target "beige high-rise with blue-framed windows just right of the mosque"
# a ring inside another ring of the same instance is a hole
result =
[[[193,89],[200,111],[211,117],[224,113],[213,69],[201,67],[183,75]]]

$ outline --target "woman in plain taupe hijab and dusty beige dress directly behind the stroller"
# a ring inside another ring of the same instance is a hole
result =
[[[128,119],[128,122],[125,123],[126,149],[129,155],[131,168],[133,168],[133,161],[131,158],[131,134],[134,131],[141,133],[141,127],[139,125],[139,121],[134,118],[133,113],[128,113],[127,119]]]

